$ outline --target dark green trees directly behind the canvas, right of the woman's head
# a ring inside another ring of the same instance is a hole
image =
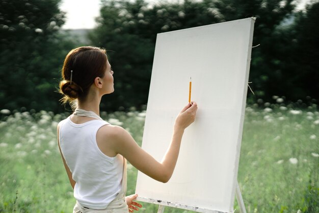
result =
[[[110,50],[115,69],[115,93],[109,99],[116,104],[106,102],[105,107],[147,103],[157,33],[252,16],[257,18],[253,43],[260,46],[252,52],[250,81],[257,97],[271,97],[274,91],[267,91],[274,78],[271,64],[277,62],[272,59],[272,36],[293,12],[292,2],[185,0],[182,4],[161,2],[149,7],[143,0],[102,1],[99,26],[90,38],[94,45]]]

